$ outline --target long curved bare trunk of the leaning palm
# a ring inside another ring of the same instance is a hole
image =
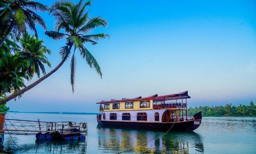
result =
[[[32,89],[33,87],[35,87],[37,84],[39,84],[40,82],[44,81],[46,78],[48,78],[50,75],[52,75],[54,72],[56,72],[62,65],[63,63],[66,61],[66,59],[68,58],[69,56],[69,53],[70,53],[70,50],[72,48],[72,45],[69,46],[68,48],[68,52],[67,54],[65,54],[64,58],[62,59],[62,61],[49,73],[47,73],[45,76],[41,77],[40,79],[38,79],[36,82],[30,84],[29,86],[23,88],[22,90],[20,91],[17,91],[11,95],[9,95],[8,97],[6,97],[5,99],[3,100],[0,100],[0,104],[3,104],[3,103],[6,103],[8,102],[9,100],[12,100],[14,98],[16,98],[17,96],[23,94],[24,92]]]

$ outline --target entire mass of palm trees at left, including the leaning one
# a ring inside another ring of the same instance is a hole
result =
[[[86,6],[91,1],[74,3],[68,0],[55,1],[48,9],[46,5],[33,0],[0,0],[0,104],[20,97],[56,72],[67,61],[73,48],[71,58],[71,85],[74,92],[76,67],[76,50],[85,62],[102,76],[101,68],[93,55],[87,50],[86,43],[96,45],[106,34],[91,34],[96,27],[106,27],[107,21],[101,17],[89,17]],[[46,73],[45,65],[51,66],[45,54],[50,50],[37,38],[36,24],[46,29],[43,18],[34,11],[46,11],[55,17],[55,30],[45,34],[54,40],[64,38],[66,44],[61,47],[61,62]],[[27,34],[27,29],[34,32]],[[25,85],[34,75],[39,79]],[[44,76],[41,77],[41,74]]]

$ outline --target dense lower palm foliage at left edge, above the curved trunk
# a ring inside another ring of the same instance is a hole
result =
[[[0,99],[9,93],[15,93],[26,87],[25,81],[34,74],[45,74],[45,65],[50,66],[45,54],[50,50],[43,45],[43,40],[25,34],[17,44],[0,47]]]

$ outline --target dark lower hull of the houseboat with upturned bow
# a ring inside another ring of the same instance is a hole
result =
[[[194,115],[194,119],[180,122],[132,122],[116,120],[97,120],[100,126],[140,128],[147,130],[175,130],[192,131],[201,125],[201,112]]]

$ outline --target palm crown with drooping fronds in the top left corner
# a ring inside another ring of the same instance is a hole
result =
[[[48,10],[46,5],[31,0],[0,0],[0,19],[5,20],[5,28],[1,31],[0,46],[5,41],[9,33],[15,30],[15,34],[20,37],[27,32],[27,27],[35,32],[37,37],[36,23],[46,29],[46,23],[34,11]]]

